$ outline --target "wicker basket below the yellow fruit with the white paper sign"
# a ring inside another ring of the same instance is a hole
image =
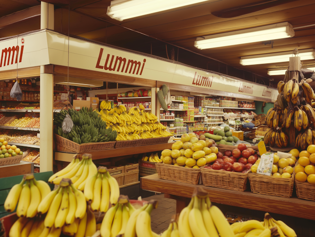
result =
[[[277,178],[256,173],[248,175],[253,193],[290,198],[294,186],[294,172],[291,178]]]

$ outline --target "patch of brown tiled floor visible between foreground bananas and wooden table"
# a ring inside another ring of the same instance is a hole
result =
[[[171,217],[176,212],[176,201],[164,198],[164,194],[154,195],[143,200],[151,199],[158,201],[158,208],[151,212],[151,228],[152,231],[159,234],[168,228]]]

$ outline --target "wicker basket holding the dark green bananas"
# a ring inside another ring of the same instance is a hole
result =
[[[97,150],[104,150],[104,149],[112,149],[114,148],[116,144],[116,142],[77,144],[57,134],[55,135],[56,135],[56,144],[57,144],[58,151],[83,153],[83,152],[90,152],[90,151],[97,151]]]

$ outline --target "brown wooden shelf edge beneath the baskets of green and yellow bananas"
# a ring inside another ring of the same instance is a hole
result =
[[[92,154],[93,160],[105,159],[105,158],[121,158],[126,155],[134,155],[139,154],[141,150],[142,153],[149,153],[164,149],[171,149],[173,143],[162,143],[162,144],[154,144],[154,145],[146,145],[146,146],[137,146],[137,147],[128,147],[128,148],[114,148],[114,149],[104,149],[99,151],[90,151]],[[55,151],[55,160],[71,162],[73,159],[74,153],[67,153],[62,151]]]

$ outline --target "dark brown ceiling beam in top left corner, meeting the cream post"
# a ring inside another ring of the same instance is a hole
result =
[[[40,5],[14,12],[10,15],[0,18],[0,29],[36,16],[40,16]]]

